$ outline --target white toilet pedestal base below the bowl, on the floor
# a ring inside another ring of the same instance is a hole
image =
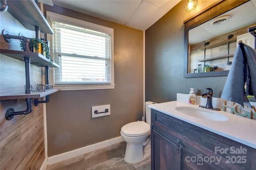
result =
[[[136,163],[144,160],[142,144],[127,143],[124,160],[128,163]]]

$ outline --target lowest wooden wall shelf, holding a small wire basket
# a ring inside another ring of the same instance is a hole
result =
[[[25,94],[24,92],[20,93],[14,93],[14,94],[6,94],[6,95],[1,95],[0,100],[14,100],[14,99],[27,99],[27,98],[42,98],[44,96],[53,94],[55,92],[60,91],[60,89],[52,89],[48,90],[46,92],[32,92],[30,94]]]

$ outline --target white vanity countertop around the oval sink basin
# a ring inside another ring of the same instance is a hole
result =
[[[212,121],[206,119],[200,119],[192,117],[183,113],[176,111],[175,107],[196,107],[201,108],[199,105],[190,105],[186,102],[173,101],[165,102],[160,104],[153,104],[149,107],[180,119],[186,121],[192,125],[196,125],[228,139],[232,139],[249,147],[256,149],[256,120],[248,119],[247,117],[242,117],[239,115],[231,114],[226,111],[216,111],[222,115],[228,117],[227,121]],[[222,107],[218,107],[222,109]],[[203,108],[202,108],[203,109]],[[212,110],[211,110],[212,111]],[[215,110],[214,110],[215,111]]]

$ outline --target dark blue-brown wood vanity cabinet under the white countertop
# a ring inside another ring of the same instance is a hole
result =
[[[151,169],[255,170],[256,149],[151,109]]]

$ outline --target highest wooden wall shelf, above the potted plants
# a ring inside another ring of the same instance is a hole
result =
[[[7,5],[7,11],[27,29],[34,31],[37,26],[40,32],[54,34],[34,0],[8,0]]]

